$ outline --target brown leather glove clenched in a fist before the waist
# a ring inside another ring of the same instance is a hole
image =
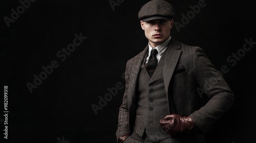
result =
[[[178,114],[166,115],[160,120],[160,126],[167,130],[171,137],[196,131],[196,125],[189,116],[180,116]]]

